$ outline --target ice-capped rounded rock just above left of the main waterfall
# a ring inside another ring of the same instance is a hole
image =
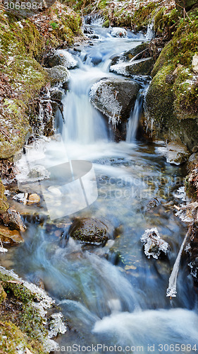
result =
[[[77,60],[66,50],[56,50],[54,55],[49,57],[48,60],[49,67],[56,67],[57,65],[61,65],[66,67],[67,69],[71,69],[77,67]]]

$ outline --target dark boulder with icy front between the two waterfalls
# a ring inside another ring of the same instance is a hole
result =
[[[90,101],[115,127],[129,118],[140,86],[127,79],[102,79],[92,86]]]

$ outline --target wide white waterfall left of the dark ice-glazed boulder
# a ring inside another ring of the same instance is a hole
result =
[[[103,76],[104,72],[87,65],[71,73],[69,91],[63,98],[63,115],[66,121],[63,139],[66,142],[90,144],[108,139],[104,118],[89,101],[91,86]]]

